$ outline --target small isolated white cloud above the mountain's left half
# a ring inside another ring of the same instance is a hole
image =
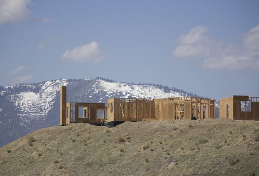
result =
[[[101,50],[97,42],[93,41],[90,44],[66,50],[61,59],[75,62],[99,62],[103,60],[103,56],[101,56]]]

